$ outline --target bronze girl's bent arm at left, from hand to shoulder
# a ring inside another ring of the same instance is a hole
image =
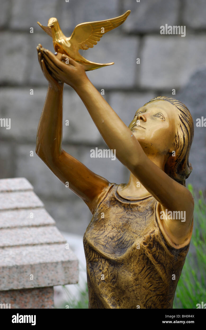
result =
[[[62,149],[63,83],[58,83],[49,74],[40,47],[37,48],[39,63],[49,86],[37,130],[36,153],[61,182],[84,200],[93,213],[110,182]]]

